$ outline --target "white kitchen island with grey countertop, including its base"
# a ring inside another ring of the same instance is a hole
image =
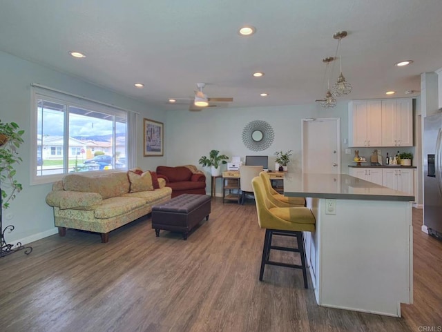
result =
[[[344,174],[287,173],[284,195],[306,197],[316,231],[305,248],[321,306],[401,317],[413,300],[412,201]]]

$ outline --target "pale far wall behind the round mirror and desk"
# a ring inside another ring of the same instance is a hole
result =
[[[294,150],[289,171],[300,168],[301,164],[301,120],[311,117],[340,117],[341,140],[348,138],[347,101],[341,101],[335,108],[324,109],[318,104],[253,107],[253,108],[207,108],[200,112],[189,110],[173,111],[166,120],[166,155],[170,166],[195,164],[202,155],[209,155],[212,149],[230,157],[246,155],[268,155],[269,169],[274,169],[274,153],[278,150]],[[274,132],[273,144],[266,150],[253,151],[244,146],[242,130],[250,121],[267,121]],[[318,133],[321,135],[321,133]],[[342,144],[342,143],[341,143]],[[343,173],[348,173],[353,155],[344,155],[347,144],[342,144]],[[320,162],[320,157],[318,157]],[[227,169],[223,165],[223,169]],[[205,169],[207,191],[210,191],[209,168]],[[220,195],[221,186],[217,192]]]

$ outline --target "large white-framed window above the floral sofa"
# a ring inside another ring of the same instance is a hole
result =
[[[128,112],[35,88],[31,182],[76,172],[126,170]],[[101,157],[100,157],[101,156]]]

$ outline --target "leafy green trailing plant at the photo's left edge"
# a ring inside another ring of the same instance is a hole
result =
[[[8,208],[10,201],[22,189],[15,179],[17,171],[14,166],[22,161],[17,148],[23,143],[21,136],[24,132],[15,122],[5,123],[0,120],[1,208]]]

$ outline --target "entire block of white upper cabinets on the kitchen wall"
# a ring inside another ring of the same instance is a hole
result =
[[[412,99],[349,102],[349,146],[413,146]]]

